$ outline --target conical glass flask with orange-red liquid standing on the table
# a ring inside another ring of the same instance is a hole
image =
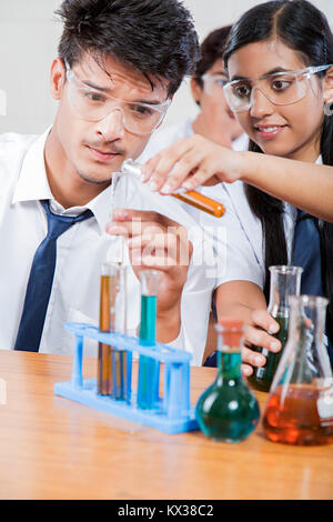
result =
[[[272,382],[263,428],[273,442],[333,442],[333,378],[324,345],[327,300],[290,298],[290,332]]]

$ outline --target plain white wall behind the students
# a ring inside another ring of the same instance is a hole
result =
[[[7,116],[1,116],[0,108],[0,132],[39,133],[53,120],[56,103],[49,93],[49,71],[61,33],[61,23],[53,16],[60,3],[60,0],[0,0],[0,90],[7,92]],[[184,0],[200,40],[211,30],[233,23],[259,3],[262,2]],[[313,3],[333,22],[332,0]],[[195,106],[184,81],[163,126],[194,113]]]

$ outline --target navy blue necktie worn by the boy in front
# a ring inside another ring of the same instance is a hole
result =
[[[14,350],[38,352],[52,290],[57,260],[57,239],[72,224],[91,218],[87,210],[77,218],[52,214],[47,200],[41,201],[48,217],[48,235],[38,247],[27,287]]]

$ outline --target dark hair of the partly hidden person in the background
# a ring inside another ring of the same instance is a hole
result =
[[[228,41],[232,26],[221,27],[210,32],[200,46],[201,57],[196,63],[193,74],[196,83],[202,87],[202,76],[215,63],[216,60],[223,59],[224,47]]]

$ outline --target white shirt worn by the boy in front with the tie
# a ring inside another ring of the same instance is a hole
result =
[[[110,188],[84,207],[64,210],[54,201],[43,159],[48,133],[49,130],[41,137],[0,137],[0,349],[12,349],[16,341],[33,255],[47,235],[47,217],[40,200],[49,199],[56,213],[73,215],[85,209],[93,212],[93,218],[75,223],[57,240],[57,264],[40,352],[68,354],[72,353],[74,340],[64,331],[64,323],[98,325],[101,264],[119,247],[120,239],[104,232],[111,215]],[[164,213],[188,230],[193,227],[193,257],[181,301],[182,330],[170,344],[191,352],[192,363],[201,364],[214,287],[204,262],[198,262],[202,238],[196,241],[195,223],[174,198],[154,194],[142,183],[141,187],[131,195],[132,208]],[[140,283],[131,267],[128,294],[129,329],[133,333],[140,322]],[[84,341],[84,353],[97,355],[97,343]]]

